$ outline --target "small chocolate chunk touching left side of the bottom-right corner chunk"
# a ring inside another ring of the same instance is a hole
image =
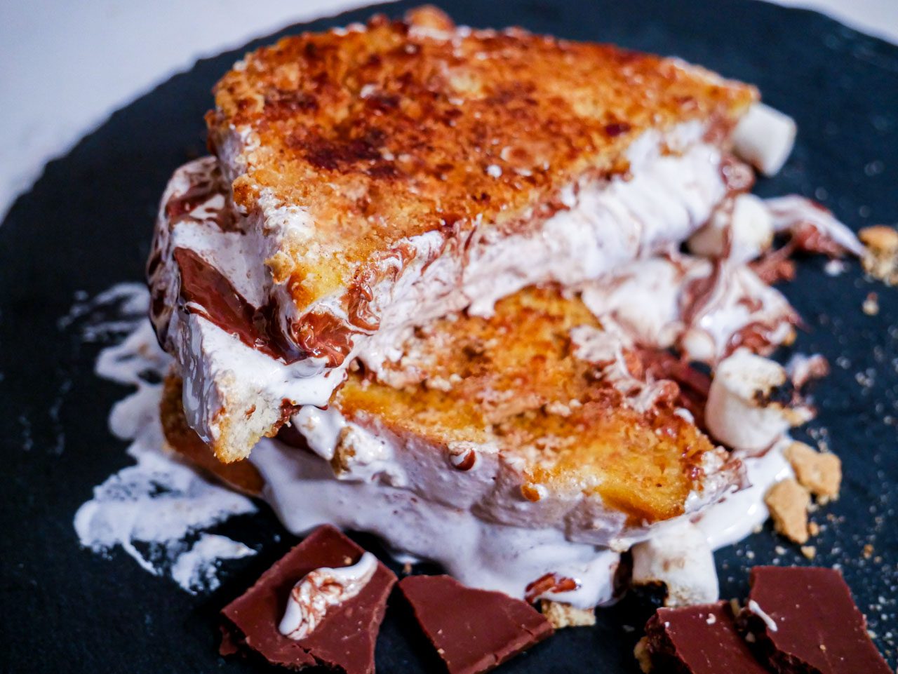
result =
[[[658,608],[646,625],[652,671],[691,674],[768,674],[736,631],[726,601]]]

